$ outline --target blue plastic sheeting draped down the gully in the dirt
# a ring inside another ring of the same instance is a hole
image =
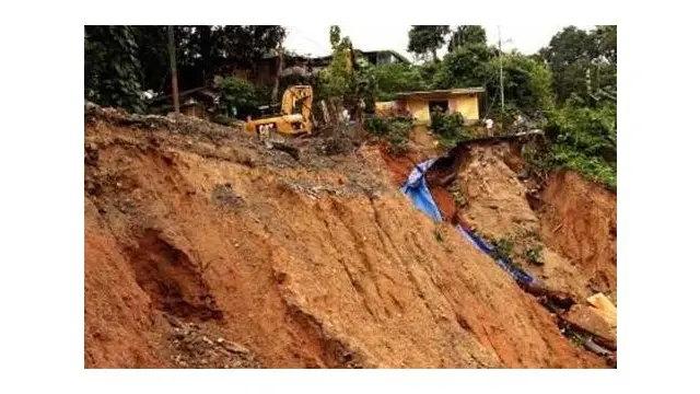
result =
[[[430,159],[417,165],[416,169],[411,171],[408,175],[408,179],[401,186],[401,193],[407,195],[416,208],[425,212],[429,217],[431,217],[436,222],[442,222],[442,215],[440,213],[440,209],[438,209],[438,205],[433,200],[430,190],[428,189],[428,183],[425,182],[425,171],[430,169],[438,159]],[[471,242],[476,247],[478,247],[481,252],[491,255],[493,252],[493,247],[491,247],[483,240],[478,237],[476,234],[470,232],[469,230],[464,229],[462,225],[457,224],[457,231],[464,236],[467,241]],[[524,270],[520,269],[513,263],[508,259],[495,259],[495,263],[505,270],[513,279],[515,279],[518,283],[533,283],[535,278],[527,275]]]

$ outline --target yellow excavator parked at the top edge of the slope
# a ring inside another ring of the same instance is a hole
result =
[[[255,132],[267,139],[272,135],[294,137],[311,135],[313,121],[311,117],[314,91],[308,85],[289,86],[280,103],[281,114],[278,116],[252,119],[245,123],[247,132]]]

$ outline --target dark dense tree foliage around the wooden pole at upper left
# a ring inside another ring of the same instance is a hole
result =
[[[284,39],[277,25],[178,25],[175,30],[180,90],[213,81],[231,65],[253,67]],[[142,91],[170,92],[166,26],[85,26],[85,97],[140,111]]]

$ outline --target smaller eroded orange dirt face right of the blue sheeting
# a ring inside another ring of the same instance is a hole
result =
[[[572,172],[553,174],[539,190],[524,169],[512,144],[474,146],[455,181],[466,204],[456,207],[444,187],[431,192],[444,217],[457,210],[482,235],[512,245],[513,260],[548,287],[580,303],[594,292],[615,294],[615,193]]]

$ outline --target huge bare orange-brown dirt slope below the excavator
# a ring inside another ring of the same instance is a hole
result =
[[[378,151],[150,125],[86,115],[86,367],[604,367]]]

